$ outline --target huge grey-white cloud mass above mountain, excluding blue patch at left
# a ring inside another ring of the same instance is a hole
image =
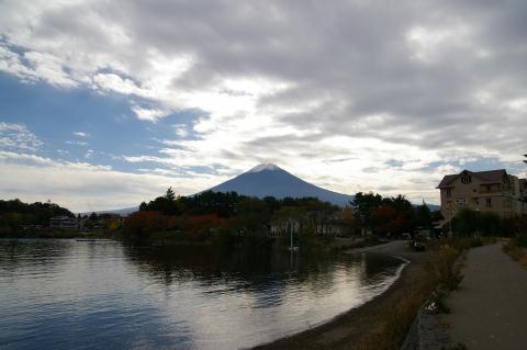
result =
[[[202,111],[176,124],[158,155],[124,157],[167,168],[157,173],[224,167],[228,176],[271,161],[336,191],[437,202],[436,182],[459,161],[525,153],[526,10],[520,1],[4,1],[0,69],[128,95],[147,122]],[[193,191],[223,178],[206,179]]]

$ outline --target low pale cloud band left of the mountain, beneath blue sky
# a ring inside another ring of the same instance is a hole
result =
[[[137,174],[108,166],[0,151],[0,178],[2,199],[49,199],[74,212],[89,212],[138,205],[162,194],[168,187],[179,194],[191,194],[203,185],[204,176],[192,179],[157,171]]]

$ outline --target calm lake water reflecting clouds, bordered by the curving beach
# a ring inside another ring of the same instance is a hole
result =
[[[382,293],[402,261],[0,240],[0,349],[236,349]]]

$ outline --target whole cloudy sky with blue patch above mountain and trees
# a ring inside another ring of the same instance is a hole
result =
[[[72,211],[260,162],[438,203],[525,176],[527,1],[0,1],[0,196]]]

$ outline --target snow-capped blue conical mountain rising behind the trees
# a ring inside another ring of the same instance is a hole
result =
[[[273,196],[276,199],[312,196],[339,206],[345,206],[354,200],[352,195],[316,187],[272,163],[256,166],[234,179],[213,187],[210,191],[234,191],[238,194],[260,199],[265,196]]]

